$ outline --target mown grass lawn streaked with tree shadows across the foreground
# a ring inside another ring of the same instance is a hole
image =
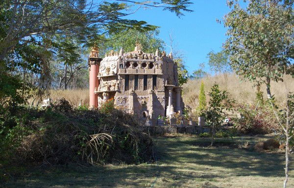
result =
[[[3,187],[12,188],[278,188],[284,180],[284,155],[238,149],[267,137],[209,139],[156,137],[157,164],[85,167],[25,167]],[[293,165],[291,166],[293,167]],[[291,168],[292,169],[292,168]],[[290,171],[290,177],[294,171]],[[1,186],[0,186],[1,187]],[[294,187],[290,179],[289,188]]]

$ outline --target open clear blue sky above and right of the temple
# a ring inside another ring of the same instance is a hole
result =
[[[160,35],[169,43],[169,32],[172,33],[176,48],[185,55],[186,67],[189,73],[199,68],[200,63],[206,63],[206,55],[211,51],[220,51],[226,36],[226,28],[217,23],[229,12],[226,0],[192,0],[194,4],[185,12],[185,16],[176,17],[174,13],[161,8],[141,9],[128,16],[130,19],[147,21],[148,24],[159,26]],[[170,53],[170,48],[167,47]],[[206,65],[206,71],[209,68]]]

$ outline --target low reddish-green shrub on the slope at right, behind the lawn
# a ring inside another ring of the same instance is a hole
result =
[[[276,119],[267,106],[237,106],[241,118],[235,120],[235,127],[242,134],[268,134],[278,131]]]

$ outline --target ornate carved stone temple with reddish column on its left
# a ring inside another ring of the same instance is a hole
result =
[[[90,107],[113,99],[116,107],[156,125],[159,116],[182,113],[184,104],[178,83],[177,64],[172,53],[142,52],[137,43],[133,52],[111,51],[103,59],[98,49],[89,56]]]

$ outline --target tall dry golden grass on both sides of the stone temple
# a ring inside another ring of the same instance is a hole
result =
[[[203,78],[202,81],[205,85],[204,89],[206,94],[210,91],[211,86],[216,82],[220,85],[221,90],[227,90],[237,103],[253,104],[255,102],[256,88],[253,87],[253,84],[249,81],[240,81],[236,74],[210,76]],[[200,84],[201,80],[189,80],[183,85],[184,103],[192,108],[196,108],[198,106]],[[271,92],[281,105],[286,102],[286,87],[288,92],[294,92],[294,79],[290,76],[287,76],[284,82],[271,83]],[[261,91],[264,92],[264,98],[266,99],[266,87],[264,85],[261,86]],[[75,107],[79,105],[80,100],[82,100],[82,105],[89,105],[89,90],[51,90],[49,98],[53,101],[53,103],[61,98],[65,98]]]

